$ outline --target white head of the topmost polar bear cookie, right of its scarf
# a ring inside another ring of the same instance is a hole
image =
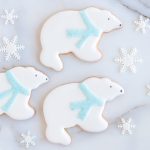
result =
[[[111,30],[122,27],[121,21],[110,11],[95,7],[89,7],[86,11],[96,27],[102,30],[102,32],[110,32]]]

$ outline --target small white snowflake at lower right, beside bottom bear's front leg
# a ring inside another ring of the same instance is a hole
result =
[[[135,128],[135,125],[131,123],[132,119],[129,118],[127,121],[124,118],[121,118],[121,122],[118,124],[118,128],[122,130],[122,134],[132,134],[132,129]]]

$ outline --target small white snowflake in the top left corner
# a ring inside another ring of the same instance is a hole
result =
[[[15,10],[4,9],[4,14],[1,15],[1,18],[5,20],[5,24],[14,24],[14,20],[18,19],[18,15],[15,14]]]

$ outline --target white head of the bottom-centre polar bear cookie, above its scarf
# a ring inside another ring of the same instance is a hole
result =
[[[83,83],[104,101],[111,101],[117,96],[124,94],[124,89],[108,78],[92,77],[86,79]]]

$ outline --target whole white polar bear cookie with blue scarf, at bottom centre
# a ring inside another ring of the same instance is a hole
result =
[[[52,90],[43,106],[47,139],[68,145],[71,138],[65,129],[76,125],[88,132],[105,130],[108,126],[102,116],[105,103],[123,93],[123,88],[117,83],[97,77]]]

